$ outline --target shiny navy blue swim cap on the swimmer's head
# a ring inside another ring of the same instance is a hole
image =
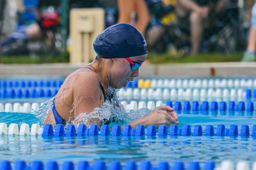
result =
[[[97,55],[103,58],[126,58],[147,54],[143,35],[130,24],[116,24],[101,32],[93,42]]]

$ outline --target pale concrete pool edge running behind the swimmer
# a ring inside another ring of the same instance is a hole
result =
[[[85,63],[0,64],[0,78],[66,77]],[[144,64],[139,78],[145,77],[256,77],[256,62]]]

